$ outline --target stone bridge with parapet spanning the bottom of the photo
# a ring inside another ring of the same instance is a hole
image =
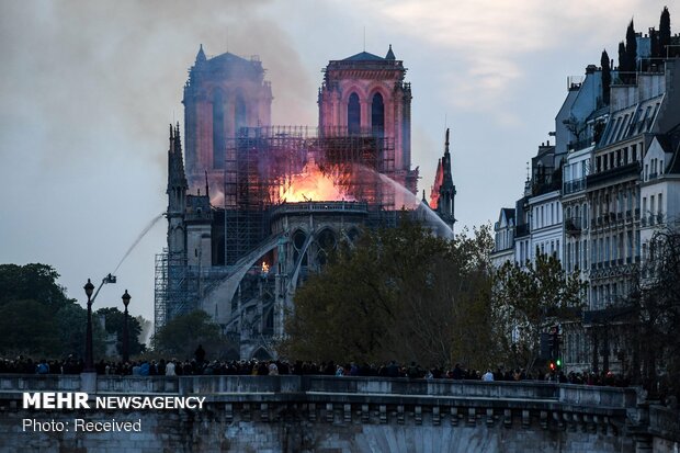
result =
[[[646,452],[678,451],[677,412],[634,388],[546,382],[331,376],[0,375],[0,451]],[[24,409],[24,392],[200,396],[202,409]],[[95,390],[93,390],[95,388]],[[69,422],[24,428],[24,419]],[[73,420],[139,421],[75,432]],[[9,433],[9,434],[8,434]]]

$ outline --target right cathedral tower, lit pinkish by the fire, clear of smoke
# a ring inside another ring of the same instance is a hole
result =
[[[319,90],[319,129],[325,135],[373,135],[394,147],[388,175],[416,193],[411,170],[411,86],[392,45],[383,58],[362,52],[326,67]]]

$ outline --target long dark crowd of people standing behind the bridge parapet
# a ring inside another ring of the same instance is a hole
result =
[[[33,361],[31,358],[0,359],[0,373],[22,374],[79,374],[83,371],[81,359],[68,356],[64,360]],[[101,360],[94,364],[98,374],[116,376],[181,376],[181,375],[328,375],[328,376],[379,376],[379,377],[409,377],[426,380],[471,380],[471,381],[552,381],[581,385],[609,385],[625,387],[627,381],[613,373],[577,373],[565,374],[562,371],[528,372],[525,370],[487,370],[481,373],[477,370],[467,370],[460,363],[451,369],[440,366],[422,367],[416,362],[398,364],[390,361],[383,365],[369,363],[358,364],[349,362],[337,364],[332,361],[314,362],[285,360],[205,360],[202,347],[196,349],[191,360],[136,360],[123,363],[122,361]]]

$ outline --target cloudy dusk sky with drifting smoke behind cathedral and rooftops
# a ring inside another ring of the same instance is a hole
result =
[[[0,263],[53,265],[69,297],[113,272],[167,207],[168,124],[183,124],[199,45],[259,55],[272,123],[317,124],[321,68],[392,44],[412,84],[412,160],[430,191],[451,127],[456,230],[495,222],[521,196],[526,161],[554,131],[567,77],[616,59],[633,18],[658,0],[0,0]],[[676,11],[669,4],[672,32]],[[678,15],[680,16],[680,15]],[[615,61],[616,65],[616,61]],[[154,318],[158,222],[94,308]]]

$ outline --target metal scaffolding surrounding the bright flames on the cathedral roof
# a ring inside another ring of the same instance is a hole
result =
[[[394,211],[395,191],[381,180],[395,170],[394,140],[371,131],[340,135],[305,126],[241,128],[227,139],[224,262],[236,263],[269,235],[269,212],[292,177],[315,159],[336,185],[376,211]]]

